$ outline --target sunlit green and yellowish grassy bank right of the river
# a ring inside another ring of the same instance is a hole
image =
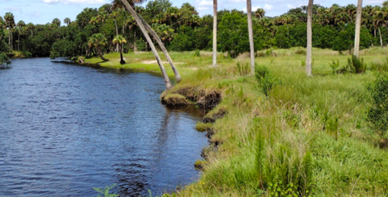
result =
[[[278,81],[268,96],[263,82],[244,75],[247,55],[220,55],[213,69],[209,52],[200,57],[194,52],[170,54],[182,74],[171,93],[219,91],[222,101],[207,116],[226,112],[205,125],[213,135],[204,151],[203,176],[174,195],[388,195],[388,150],[379,148],[379,137],[366,121],[371,104],[366,84],[375,79],[369,69],[373,62],[385,61],[388,49],[360,53],[369,68],[365,74],[333,73],[332,60],[338,60],[340,69],[350,56],[314,49],[312,78],[305,75],[304,54],[302,48],[258,53],[256,63],[269,69],[269,80]],[[151,53],[126,54],[129,63],[123,66],[118,54],[106,57],[111,61],[102,66],[159,72],[156,62],[145,64],[154,60]],[[171,69],[168,74],[172,76]]]

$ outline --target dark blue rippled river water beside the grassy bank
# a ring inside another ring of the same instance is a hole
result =
[[[159,101],[161,77],[13,60],[0,70],[0,195],[153,195],[193,182],[201,113]]]

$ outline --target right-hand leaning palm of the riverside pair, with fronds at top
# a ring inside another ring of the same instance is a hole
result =
[[[120,3],[121,1],[121,3]],[[171,69],[173,70],[174,72],[174,75],[175,75],[175,80],[177,82],[180,82],[182,80],[182,77],[180,76],[177,68],[175,67],[174,65],[174,62],[172,61],[170,55],[168,54],[167,52],[167,49],[165,47],[165,45],[163,44],[163,42],[161,41],[161,39],[159,38],[158,34],[156,34],[156,32],[144,21],[144,19],[134,10],[134,7],[135,7],[135,3],[140,3],[140,2],[143,2],[144,0],[113,0],[113,6],[116,6],[116,7],[120,7],[121,4],[123,5],[123,7],[126,7],[128,10],[129,8],[128,7],[131,7],[131,9],[133,10],[133,13],[130,11],[130,14],[132,15],[132,17],[135,19],[135,22],[137,23],[137,25],[139,26],[139,28],[141,29],[140,27],[140,23],[141,22],[141,25],[146,29],[145,32],[149,32],[151,34],[152,37],[154,37],[154,39],[156,40],[156,42],[158,43],[158,45],[160,46],[160,49],[163,51],[163,53],[165,54],[166,56],[166,59],[168,61],[168,63],[170,63],[171,65]],[[128,6],[126,5],[126,3],[128,4]],[[182,5],[183,6],[183,5]],[[136,14],[136,16],[139,18],[139,21],[136,20],[135,16],[133,14]],[[148,33],[147,33],[148,34]]]

